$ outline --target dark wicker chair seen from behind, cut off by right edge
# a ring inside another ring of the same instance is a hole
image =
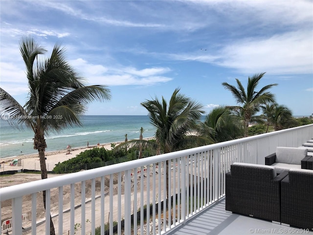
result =
[[[282,224],[313,230],[313,170],[291,169],[281,193]]]

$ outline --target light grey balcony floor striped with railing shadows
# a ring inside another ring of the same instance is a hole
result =
[[[198,215],[179,226],[169,235],[251,235],[251,234],[307,234],[313,231],[301,231],[268,220],[225,211],[225,199],[216,205],[199,212]]]

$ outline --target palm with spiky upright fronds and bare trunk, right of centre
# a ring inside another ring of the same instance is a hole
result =
[[[260,106],[262,104],[274,103],[274,94],[267,92],[267,90],[273,86],[277,86],[278,84],[269,84],[265,87],[262,87],[260,91],[256,91],[257,86],[261,78],[263,77],[263,73],[254,74],[252,77],[248,77],[247,88],[243,87],[242,83],[239,79],[236,78],[237,88],[233,85],[230,85],[226,82],[223,82],[222,85],[225,89],[229,90],[236,99],[238,104],[242,106],[234,106],[233,109],[239,110],[239,112],[243,115],[245,120],[245,137],[248,136],[248,126],[251,118],[260,111]]]

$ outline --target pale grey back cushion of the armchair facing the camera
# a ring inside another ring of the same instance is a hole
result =
[[[300,164],[308,154],[307,149],[276,147],[276,163]],[[301,168],[301,167],[300,167]]]

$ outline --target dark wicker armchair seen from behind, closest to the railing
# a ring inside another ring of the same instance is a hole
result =
[[[273,166],[232,164],[225,177],[226,211],[280,223],[280,183],[287,175],[276,176]]]

